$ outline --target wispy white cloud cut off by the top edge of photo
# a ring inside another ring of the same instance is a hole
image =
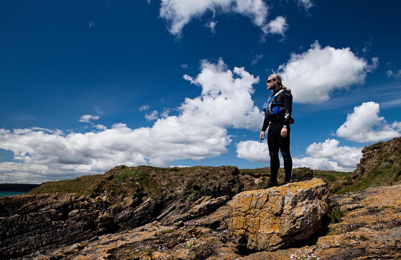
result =
[[[186,24],[207,12],[212,12],[213,18],[216,12],[242,14],[250,18],[264,34],[268,32],[283,34],[284,31],[279,29],[279,23],[283,24],[282,20],[276,21],[276,18],[275,22],[269,25],[268,10],[269,7],[263,0],[162,0],[159,15],[166,20],[168,31],[178,37],[182,36],[182,29]],[[212,20],[207,24],[212,32],[216,23]]]

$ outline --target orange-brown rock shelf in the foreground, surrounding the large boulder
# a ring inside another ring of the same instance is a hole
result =
[[[288,187],[272,189],[285,188]],[[275,251],[243,250],[231,241],[224,221],[231,210],[222,206],[211,215],[185,222],[182,227],[152,222],[26,259],[289,260],[291,256],[308,259],[308,255],[322,260],[400,259],[400,192],[401,183],[397,183],[332,196],[333,203],[345,211],[339,223],[326,224],[318,230],[319,236],[302,244]]]

